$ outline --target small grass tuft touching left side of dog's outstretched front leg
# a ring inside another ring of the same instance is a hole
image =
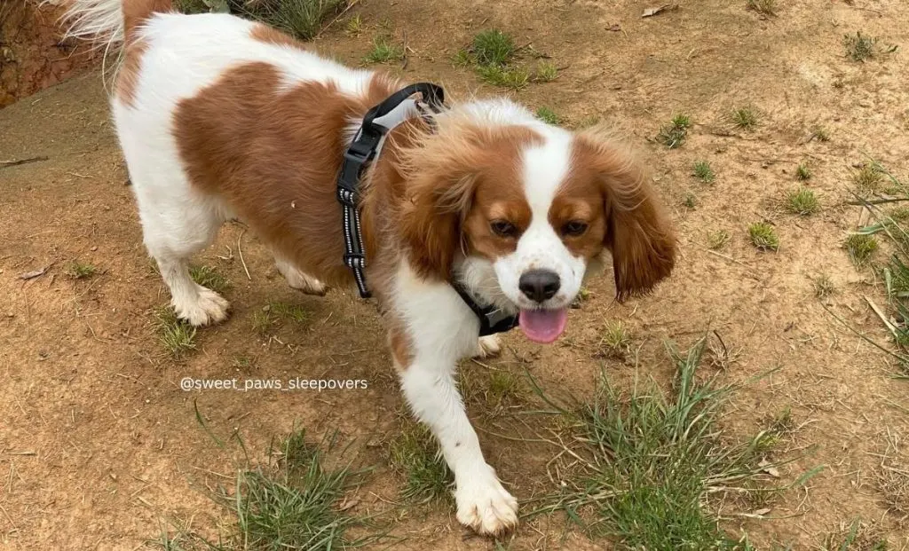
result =
[[[450,502],[454,476],[423,425],[407,421],[388,450],[388,463],[405,477],[401,496],[411,503]]]

